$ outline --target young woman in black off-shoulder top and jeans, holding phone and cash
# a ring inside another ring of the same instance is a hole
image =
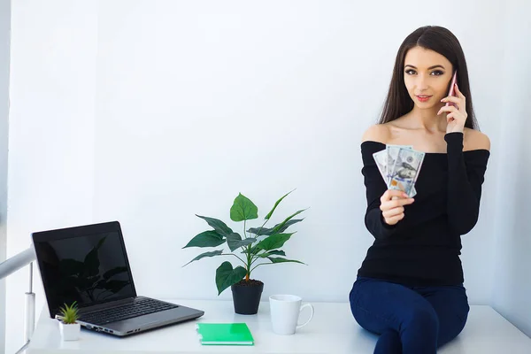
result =
[[[456,96],[448,96],[456,71]],[[381,177],[373,153],[386,144],[426,153],[414,198],[388,189]],[[458,39],[443,27],[420,27],[400,46],[381,121],[361,143],[365,223],[374,242],[350,308],[361,327],[380,335],[374,353],[435,353],[465,327],[461,235],[478,219],[489,149],[477,130]]]

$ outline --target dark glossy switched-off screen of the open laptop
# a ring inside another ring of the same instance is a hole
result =
[[[118,231],[34,241],[50,315],[73,301],[81,308],[135,296]]]

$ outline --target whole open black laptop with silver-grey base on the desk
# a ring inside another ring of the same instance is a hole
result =
[[[79,308],[82,327],[134,335],[204,315],[180,304],[137,296],[118,221],[32,234],[50,318]]]

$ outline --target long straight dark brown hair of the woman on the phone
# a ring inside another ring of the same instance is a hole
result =
[[[389,85],[389,93],[383,105],[379,123],[383,124],[400,118],[413,109],[412,98],[409,96],[404,83],[404,60],[408,50],[416,46],[434,50],[443,55],[453,65],[454,71],[458,71],[458,87],[466,97],[466,113],[468,117],[466,118],[465,127],[478,129],[478,122],[473,113],[465,54],[458,38],[448,29],[438,26],[419,27],[411,35],[408,35],[402,45],[400,45],[396,55],[393,77]],[[448,89],[450,89],[450,84]]]

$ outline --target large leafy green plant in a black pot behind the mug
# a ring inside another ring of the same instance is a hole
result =
[[[238,258],[243,266],[233,267],[230,262],[225,261],[216,270],[218,296],[223,290],[231,287],[236,313],[255,314],[258,312],[264,283],[250,278],[251,272],[258,266],[287,262],[304,264],[295,259],[285,258],[286,253],[281,250],[281,247],[289,240],[291,235],[295,234],[286,233],[288,227],[303,220],[293,218],[301,212],[304,212],[305,209],[293,213],[274,227],[266,227],[267,221],[271,219],[277,206],[289,193],[282,196],[273,205],[273,209],[267,213],[264,218],[264,224],[261,227],[250,227],[247,230],[247,221],[258,219],[258,207],[248,197],[239,193],[230,208],[230,219],[235,222],[243,221],[243,236],[234,232],[230,227],[227,227],[227,224],[219,219],[196,215],[198,218],[204,219],[208,225],[213,227],[213,230],[207,230],[196,235],[183,248],[218,247],[221,244],[227,243],[230,252],[224,252],[223,249],[204,252],[184,266],[188,266],[191,262],[206,257],[232,256]]]

